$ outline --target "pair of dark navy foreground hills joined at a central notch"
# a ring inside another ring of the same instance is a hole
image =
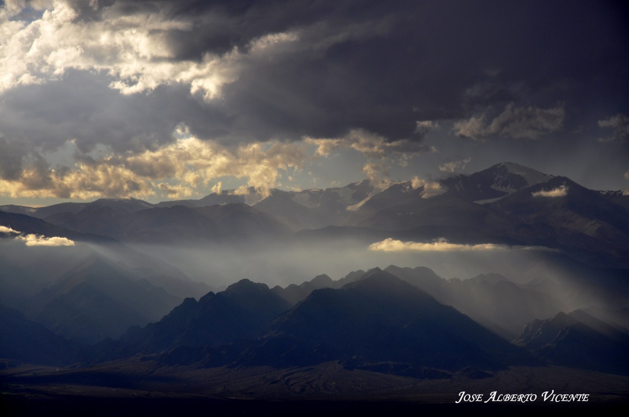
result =
[[[170,366],[279,368],[337,361],[421,378],[464,369],[486,376],[477,371],[531,363],[525,350],[379,268],[290,306],[265,284],[243,279],[198,302],[186,299],[160,322],[86,350],[84,360],[141,353]]]

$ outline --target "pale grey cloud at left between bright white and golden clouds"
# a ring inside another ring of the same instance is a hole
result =
[[[5,138],[0,147],[16,153],[26,143],[52,151],[75,139],[82,152],[98,143],[115,152],[143,151],[172,141],[180,122],[201,126],[208,136],[225,133],[225,121],[206,107],[190,96],[187,86],[121,95],[108,87],[107,77],[72,70],[63,80],[19,86],[4,94],[0,126]]]

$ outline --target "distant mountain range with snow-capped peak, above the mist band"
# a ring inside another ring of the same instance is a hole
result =
[[[74,231],[129,243],[196,244],[277,239],[316,229],[317,236],[335,238],[387,234],[406,240],[545,246],[590,265],[629,268],[629,192],[587,190],[569,178],[515,163],[433,185],[407,181],[380,190],[364,180],[325,190],[272,190],[252,206],[244,199],[223,191],[201,200],[157,204],[101,199],[0,210],[45,220],[47,226],[40,229],[47,236]]]

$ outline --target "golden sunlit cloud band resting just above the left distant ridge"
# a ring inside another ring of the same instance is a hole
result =
[[[0,179],[0,193],[11,197],[135,197],[161,193],[189,197],[194,189],[222,176],[246,178],[247,187],[266,196],[280,170],[301,167],[313,158],[308,145],[270,141],[236,148],[202,141],[185,126],[179,139],[142,153],[83,156],[65,170],[25,166],[18,178]],[[245,187],[245,188],[247,188]]]

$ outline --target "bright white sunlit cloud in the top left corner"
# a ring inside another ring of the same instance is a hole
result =
[[[234,48],[223,56],[206,53],[200,61],[173,60],[169,31],[191,31],[189,21],[159,13],[118,15],[104,8],[102,19],[77,19],[66,1],[55,0],[39,19],[14,21],[25,7],[12,1],[0,8],[0,92],[17,85],[59,79],[73,68],[108,73],[109,87],[122,94],[184,83],[205,100],[220,97],[221,88],[238,79],[247,60],[268,58],[296,33],[274,33],[253,40],[246,53]],[[43,7],[42,7],[43,8]]]

